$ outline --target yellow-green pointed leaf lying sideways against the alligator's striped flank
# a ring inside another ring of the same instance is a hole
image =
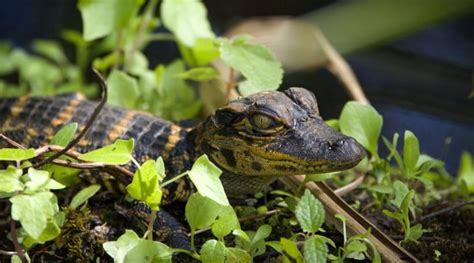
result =
[[[99,162],[108,165],[122,165],[130,161],[132,157],[134,140],[117,140],[111,145],[107,145],[103,148],[80,154],[79,160],[89,162]]]

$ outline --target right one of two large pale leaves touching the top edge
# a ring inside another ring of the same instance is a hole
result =
[[[213,38],[207,10],[199,0],[164,0],[161,4],[163,24],[188,47],[198,38]]]

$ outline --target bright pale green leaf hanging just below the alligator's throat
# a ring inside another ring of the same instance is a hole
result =
[[[227,206],[229,201],[219,180],[221,173],[222,171],[209,161],[207,155],[202,155],[193,164],[188,175],[202,196],[208,197],[220,205]]]

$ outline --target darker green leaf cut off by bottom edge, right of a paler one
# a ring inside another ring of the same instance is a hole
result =
[[[153,263],[171,263],[173,250],[163,243],[140,239],[137,244],[127,252],[125,263],[135,262],[153,262]]]

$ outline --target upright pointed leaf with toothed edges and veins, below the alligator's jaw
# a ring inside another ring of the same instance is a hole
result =
[[[296,206],[295,216],[304,231],[315,233],[324,222],[325,211],[321,202],[306,189]]]

